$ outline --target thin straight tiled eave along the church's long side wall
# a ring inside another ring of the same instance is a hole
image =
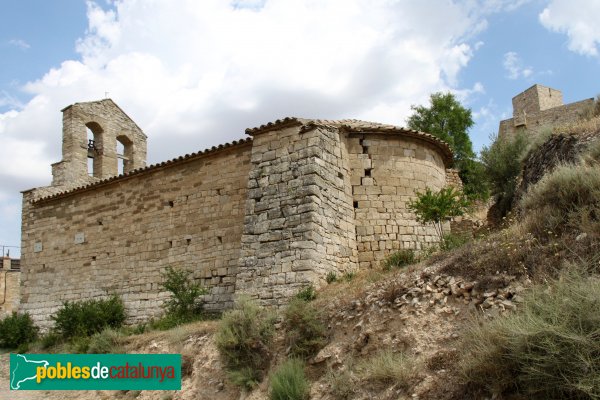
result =
[[[52,199],[64,197],[64,196],[67,196],[67,195],[70,195],[73,193],[83,192],[83,191],[93,189],[93,188],[96,188],[99,186],[107,185],[107,184],[115,182],[115,181],[125,180],[125,179],[128,179],[135,175],[149,173],[149,172],[152,172],[154,170],[157,170],[157,169],[160,169],[163,167],[172,166],[175,164],[180,164],[183,162],[191,161],[191,160],[201,158],[201,157],[204,157],[204,156],[207,156],[210,154],[215,154],[220,151],[230,149],[233,147],[237,147],[237,146],[241,146],[241,145],[244,145],[244,144],[250,143],[250,142],[252,142],[252,138],[244,138],[244,139],[240,139],[240,140],[234,140],[233,142],[230,142],[230,143],[224,143],[224,144],[220,144],[218,146],[213,146],[210,149],[200,150],[198,152],[186,154],[184,156],[179,156],[179,157],[173,158],[171,160],[148,165],[143,168],[137,168],[137,169],[134,169],[133,171],[129,171],[129,172],[121,174],[121,175],[115,175],[115,176],[111,176],[109,178],[105,178],[105,179],[102,179],[102,180],[99,180],[96,182],[91,182],[91,183],[88,183],[87,185],[78,186],[78,187],[71,188],[71,189],[68,189],[68,190],[65,190],[62,192],[51,194],[49,196],[40,197],[39,199],[35,199],[34,201],[32,201],[32,203],[38,203],[38,202],[42,202],[42,201],[46,201],[46,200],[52,200]]]

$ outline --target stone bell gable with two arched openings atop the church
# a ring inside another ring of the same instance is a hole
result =
[[[63,159],[52,164],[52,186],[85,185],[146,165],[146,135],[111,99],[62,113]]]

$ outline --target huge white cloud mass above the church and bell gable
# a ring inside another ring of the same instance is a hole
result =
[[[150,163],[290,115],[402,124],[411,104],[460,90],[457,76],[480,46],[471,39],[487,13],[512,2],[111,4],[105,10],[88,2],[80,57],[25,84],[31,100],[0,114],[3,143],[13,148],[1,161],[0,192],[14,198],[48,184],[50,164],[61,159],[59,110],[105,92],[149,136]]]

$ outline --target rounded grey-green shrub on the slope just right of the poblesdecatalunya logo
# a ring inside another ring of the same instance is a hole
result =
[[[238,299],[235,307],[223,314],[215,342],[230,372],[252,372],[244,374],[251,379],[245,379],[242,387],[252,388],[262,379],[269,365],[274,330],[274,315],[248,298]]]

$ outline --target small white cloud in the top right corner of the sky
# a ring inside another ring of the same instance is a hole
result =
[[[540,13],[542,25],[569,37],[569,50],[598,56],[600,45],[599,0],[552,0]]]

